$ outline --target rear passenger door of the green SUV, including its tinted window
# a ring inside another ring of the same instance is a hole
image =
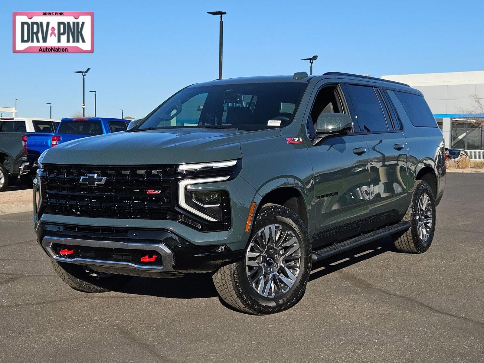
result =
[[[401,125],[376,84],[348,84],[359,134],[368,145],[369,207],[375,221],[404,209],[408,184],[408,148]]]

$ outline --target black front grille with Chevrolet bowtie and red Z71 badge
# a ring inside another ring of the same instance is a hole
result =
[[[43,203],[49,212],[58,214],[176,219],[173,174],[174,166],[45,165]]]

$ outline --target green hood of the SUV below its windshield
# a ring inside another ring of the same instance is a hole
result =
[[[280,136],[279,129],[165,129],[90,136],[60,144],[43,159],[47,164],[161,165],[238,159],[240,144]]]

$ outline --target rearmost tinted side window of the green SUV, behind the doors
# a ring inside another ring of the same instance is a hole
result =
[[[423,96],[399,91],[389,92],[396,95],[413,126],[438,127],[437,121],[435,121],[434,115]]]

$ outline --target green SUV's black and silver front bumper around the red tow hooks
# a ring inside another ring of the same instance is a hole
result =
[[[242,259],[244,251],[220,246],[201,248],[166,230],[75,227],[42,223],[37,240],[56,261],[89,266],[99,272],[136,276],[171,277],[187,272],[213,272]],[[61,248],[72,255],[61,255]],[[99,252],[102,251],[102,252]],[[107,251],[107,252],[106,252]],[[140,262],[143,254],[158,254],[156,265]],[[100,258],[102,256],[103,258]]]

